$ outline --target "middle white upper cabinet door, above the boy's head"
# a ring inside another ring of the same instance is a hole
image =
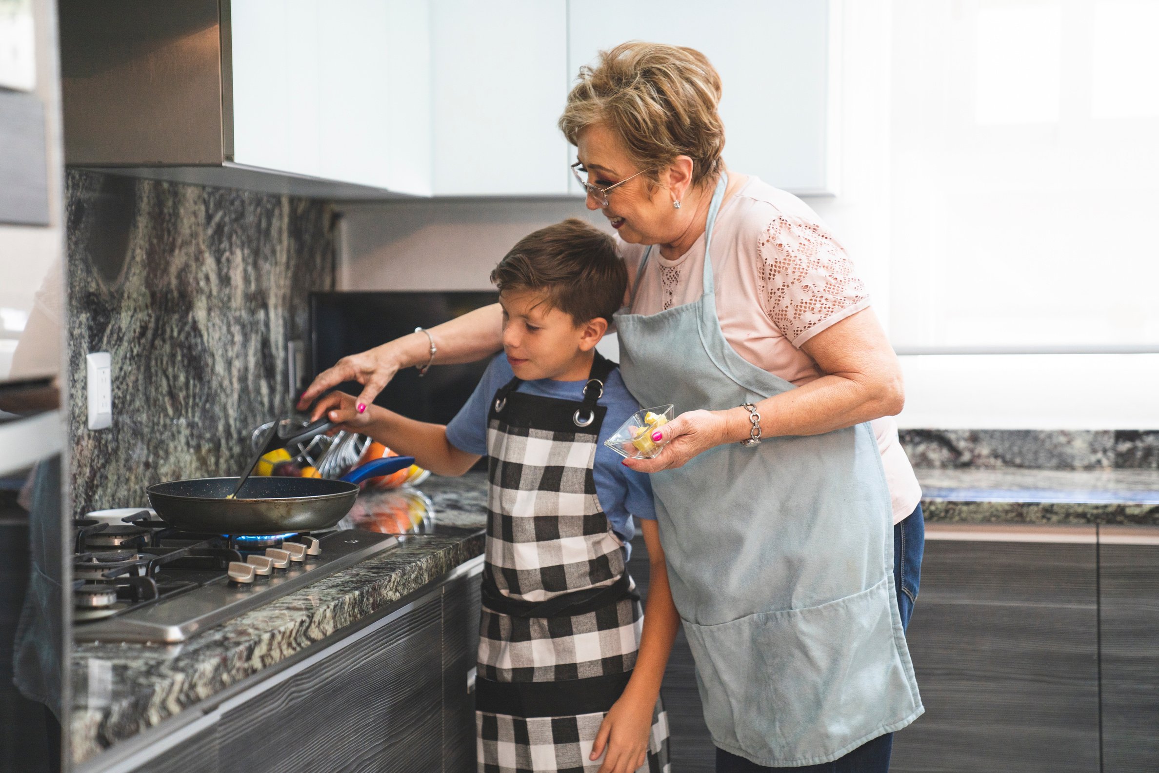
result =
[[[573,74],[566,0],[431,0],[435,195],[568,194]]]

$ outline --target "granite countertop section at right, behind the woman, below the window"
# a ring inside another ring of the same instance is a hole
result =
[[[1159,525],[1159,469],[914,472],[933,523]]]

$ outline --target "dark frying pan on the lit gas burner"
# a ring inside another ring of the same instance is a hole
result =
[[[325,431],[319,422],[314,428]],[[300,437],[300,436],[299,436]],[[358,483],[415,464],[414,457],[387,457],[356,467],[338,480],[250,477],[238,495],[238,477],[195,477],[154,483],[146,489],[161,520],[175,528],[213,534],[282,534],[329,528],[355,505]]]

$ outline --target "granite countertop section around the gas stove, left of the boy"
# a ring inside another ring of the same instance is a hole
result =
[[[483,553],[486,476],[432,477],[425,533],[181,644],[76,643],[74,763],[160,723],[443,577]],[[381,494],[359,497],[363,509]]]

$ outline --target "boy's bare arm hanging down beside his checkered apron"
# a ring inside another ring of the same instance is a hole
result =
[[[607,758],[599,773],[627,773],[643,765],[651,735],[653,709],[680,626],[680,615],[668,584],[668,564],[659,544],[659,530],[655,520],[643,518],[640,519],[640,527],[648,546],[650,567],[644,628],[628,686],[604,717],[592,745],[591,759],[598,759],[607,746]]]

